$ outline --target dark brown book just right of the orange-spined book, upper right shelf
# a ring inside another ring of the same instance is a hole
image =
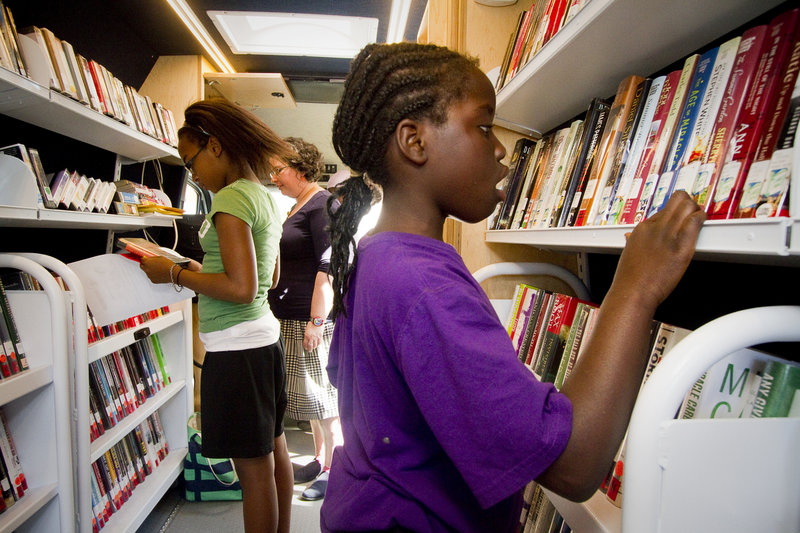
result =
[[[615,153],[611,159],[610,171],[605,174],[605,177],[601,178],[598,184],[598,187],[602,187],[599,192],[599,203],[596,204],[596,216],[593,222],[592,219],[590,219],[590,224],[594,226],[605,225],[608,222],[608,216],[617,188],[620,185],[622,174],[630,157],[634,132],[644,112],[647,95],[649,94],[650,85],[652,83],[653,80],[651,78],[644,78],[636,85],[633,91],[633,98],[625,114]]]

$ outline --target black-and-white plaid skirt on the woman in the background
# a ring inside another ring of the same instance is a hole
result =
[[[303,335],[308,321],[280,322],[286,349],[286,390],[289,395],[286,415],[295,420],[322,420],[339,416],[336,388],[328,380],[325,370],[333,323],[325,323],[322,343],[308,352],[303,349]]]

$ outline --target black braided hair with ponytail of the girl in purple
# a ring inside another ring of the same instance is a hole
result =
[[[334,317],[346,315],[344,295],[357,260],[355,234],[372,203],[371,184],[384,186],[391,179],[385,156],[395,128],[406,118],[443,124],[450,106],[466,97],[467,80],[477,68],[476,60],[448,48],[414,43],[370,44],[353,60],[333,120],[333,146],[360,177],[337,191],[338,210],[328,201]]]

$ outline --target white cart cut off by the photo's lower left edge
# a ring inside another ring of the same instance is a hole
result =
[[[43,291],[8,291],[30,368],[0,381],[28,490],[0,514],[0,531],[75,531],[67,364],[67,303],[50,273],[0,254],[0,267],[31,274]],[[45,332],[42,334],[43,325]]]

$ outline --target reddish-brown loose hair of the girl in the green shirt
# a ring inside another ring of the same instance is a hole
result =
[[[205,146],[211,136],[219,139],[231,161],[249,165],[262,183],[270,183],[270,158],[288,161],[294,149],[260,118],[224,98],[208,98],[191,104],[183,112],[184,125],[178,136]]]

